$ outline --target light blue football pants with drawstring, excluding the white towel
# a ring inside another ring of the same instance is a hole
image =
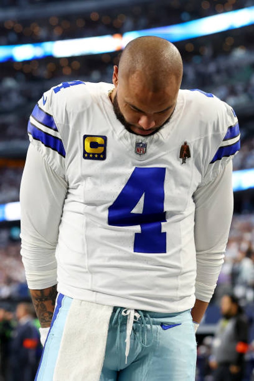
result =
[[[54,368],[72,301],[62,294],[58,296],[37,381],[59,379],[53,376]],[[129,311],[113,308],[100,381],[194,381],[196,339],[190,311],[161,314],[137,310],[127,335],[129,343],[126,343]],[[88,379],[93,380],[93,377]],[[75,381],[86,381],[86,377]]]

